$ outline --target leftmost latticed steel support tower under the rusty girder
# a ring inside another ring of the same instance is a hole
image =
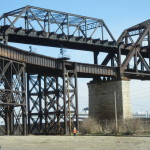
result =
[[[5,58],[0,58],[0,119],[0,134],[26,135],[25,65]]]

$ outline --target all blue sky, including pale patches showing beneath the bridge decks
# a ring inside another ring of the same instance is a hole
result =
[[[26,5],[103,19],[115,39],[119,37],[124,29],[150,18],[149,0],[1,0],[0,14]],[[26,50],[29,49],[28,45],[12,45]],[[58,57],[59,55],[59,49],[57,48],[33,46],[33,49],[38,53],[53,57]],[[93,62],[92,53],[73,50],[67,50],[67,52],[71,55],[72,60]],[[86,57],[83,57],[85,55]],[[80,110],[88,105],[88,90],[86,85],[88,81],[87,79],[79,79]],[[145,91],[145,94],[140,92],[141,88]],[[133,112],[146,112],[147,110],[150,112],[149,88],[148,81],[131,81]]]

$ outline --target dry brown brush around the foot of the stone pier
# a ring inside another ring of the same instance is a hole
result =
[[[80,125],[82,134],[93,133],[116,133],[114,120],[95,121],[93,118],[85,119]],[[150,133],[150,120],[143,119],[118,119],[117,133],[135,134],[135,133]]]

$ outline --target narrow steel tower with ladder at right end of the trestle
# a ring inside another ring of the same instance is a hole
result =
[[[74,127],[79,127],[76,64],[67,66],[64,63],[64,107],[65,131],[71,134]]]

